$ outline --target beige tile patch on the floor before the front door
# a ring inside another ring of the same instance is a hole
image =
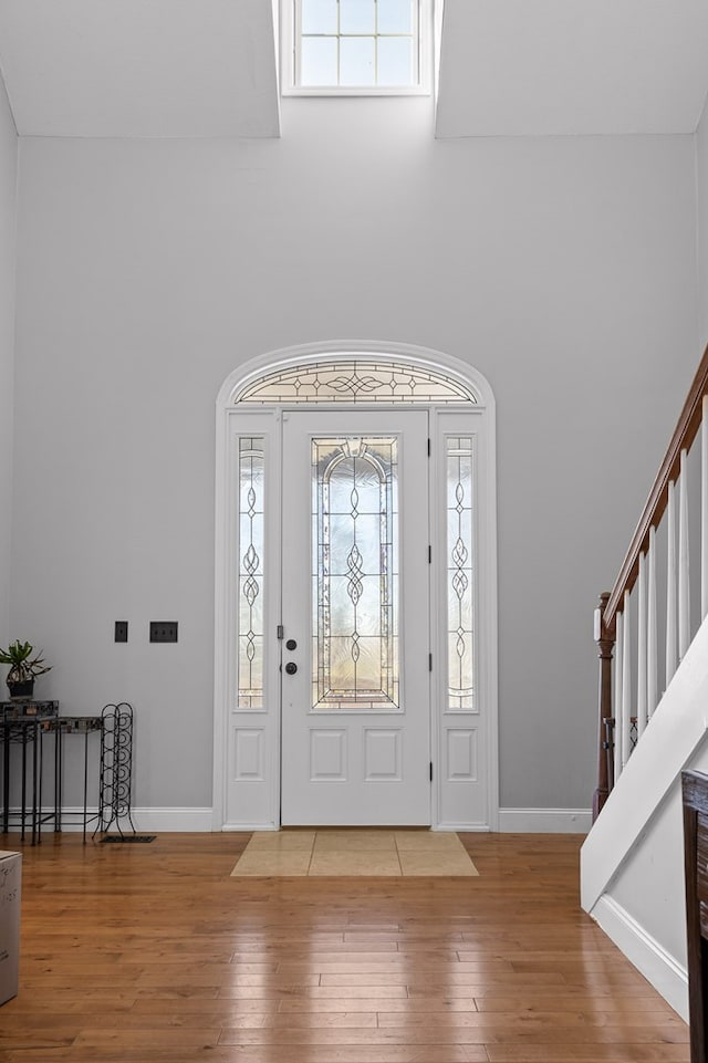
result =
[[[457,834],[428,830],[285,830],[253,834],[232,876],[476,876]]]

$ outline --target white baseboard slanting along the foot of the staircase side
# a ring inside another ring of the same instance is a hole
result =
[[[686,968],[678,963],[656,938],[647,934],[622,905],[606,894],[590,914],[684,1022],[688,1022]]]

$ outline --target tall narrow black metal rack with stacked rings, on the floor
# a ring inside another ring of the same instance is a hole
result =
[[[132,841],[136,837],[131,815],[133,708],[127,701],[106,705],[102,720],[98,825],[94,835],[98,832],[105,834],[115,825],[118,832],[116,841]],[[122,822],[125,821],[129,824],[131,834],[123,830]]]

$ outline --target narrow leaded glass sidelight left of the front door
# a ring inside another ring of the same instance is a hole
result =
[[[263,439],[239,439],[238,707],[263,708]]]

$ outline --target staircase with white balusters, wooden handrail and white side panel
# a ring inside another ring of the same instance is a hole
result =
[[[581,852],[583,908],[686,1021],[680,773],[708,772],[707,615],[708,350],[596,611],[598,783]]]

